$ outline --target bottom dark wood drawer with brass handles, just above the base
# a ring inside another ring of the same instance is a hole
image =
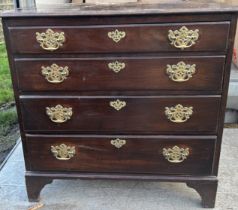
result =
[[[208,175],[214,136],[27,135],[29,170]]]

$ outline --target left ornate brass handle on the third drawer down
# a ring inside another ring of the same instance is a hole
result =
[[[56,105],[55,107],[46,107],[46,114],[52,122],[63,123],[71,118],[73,111],[71,107]]]

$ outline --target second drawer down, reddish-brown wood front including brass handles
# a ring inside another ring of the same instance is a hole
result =
[[[23,91],[221,91],[224,56],[19,59]]]

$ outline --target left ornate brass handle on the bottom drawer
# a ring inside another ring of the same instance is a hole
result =
[[[51,152],[58,160],[69,160],[75,155],[75,146],[67,146],[61,144],[59,146],[51,146]]]

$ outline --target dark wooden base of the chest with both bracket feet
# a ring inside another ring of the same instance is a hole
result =
[[[214,207],[216,196],[217,177],[215,176],[184,176],[184,175],[157,175],[157,174],[122,174],[122,173],[72,173],[72,172],[34,172],[26,171],[27,192],[31,201],[39,201],[41,189],[54,179],[109,179],[109,180],[140,180],[159,182],[188,183],[202,195],[204,207]],[[200,185],[201,184],[201,185]],[[198,186],[201,186],[198,188]],[[57,190],[57,189],[55,189]]]

